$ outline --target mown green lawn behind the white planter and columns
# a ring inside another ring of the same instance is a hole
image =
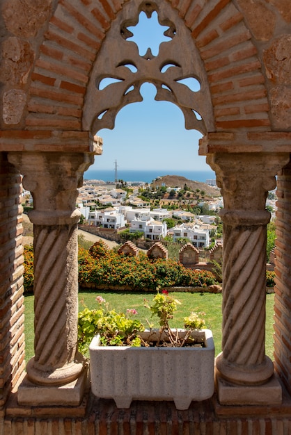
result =
[[[152,323],[149,310],[143,306],[143,299],[152,300],[153,294],[151,293],[120,293],[120,292],[107,292],[107,293],[93,293],[93,292],[80,292],[79,293],[79,310],[84,308],[84,304],[88,308],[93,308],[97,305],[95,297],[101,295],[109,302],[109,308],[116,309],[116,311],[125,312],[127,309],[136,309],[138,311],[138,318],[146,324],[148,319]],[[182,327],[183,318],[188,315],[190,311],[205,311],[206,327],[212,330],[215,344],[215,354],[221,352],[221,294],[212,293],[171,293],[173,297],[179,299],[181,305],[178,306],[178,311],[174,315],[172,321],[173,327]],[[26,338],[26,361],[33,356],[33,296],[26,295],[25,297],[25,338]],[[274,295],[267,295],[266,303],[266,354],[273,359],[273,315],[274,315]],[[157,323],[156,325],[157,326]]]

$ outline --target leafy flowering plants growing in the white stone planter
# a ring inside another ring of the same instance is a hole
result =
[[[126,313],[117,313],[109,309],[109,304],[102,296],[96,297],[99,304],[97,309],[90,310],[87,307],[78,314],[78,344],[81,352],[86,352],[92,338],[97,334],[100,335],[100,345],[106,346],[175,346],[182,347],[186,344],[194,344],[191,338],[191,332],[194,329],[205,327],[205,320],[202,318],[205,313],[194,313],[184,318],[184,327],[187,329],[186,334],[180,337],[178,329],[171,329],[169,320],[173,318],[180,301],[174,299],[166,290],[157,293],[149,305],[145,299],[145,306],[150,309],[151,315],[157,315],[159,318],[159,330],[150,327],[150,337],[148,340],[143,339],[142,332],[145,330],[144,325],[134,316],[137,314],[136,309],[127,309]],[[157,334],[158,333],[158,334]]]

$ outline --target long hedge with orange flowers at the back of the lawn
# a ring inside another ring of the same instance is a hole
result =
[[[79,286],[130,286],[132,290],[156,290],[172,286],[210,286],[214,274],[207,270],[190,270],[173,260],[152,260],[143,252],[126,256],[107,249],[102,242],[89,251],[79,248]],[[24,288],[33,286],[33,248],[24,247]]]

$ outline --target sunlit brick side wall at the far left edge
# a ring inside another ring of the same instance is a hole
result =
[[[0,156],[0,409],[24,370],[24,297],[20,176]],[[1,414],[0,414],[1,415]]]

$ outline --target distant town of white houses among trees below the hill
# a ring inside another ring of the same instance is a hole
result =
[[[184,239],[198,249],[209,249],[221,241],[223,198],[215,180],[200,183],[178,176],[157,177],[152,183],[85,180],[78,191],[80,223],[105,233],[125,231],[129,240]],[[29,205],[30,193],[22,195]],[[271,192],[267,207],[272,213],[275,199]]]

